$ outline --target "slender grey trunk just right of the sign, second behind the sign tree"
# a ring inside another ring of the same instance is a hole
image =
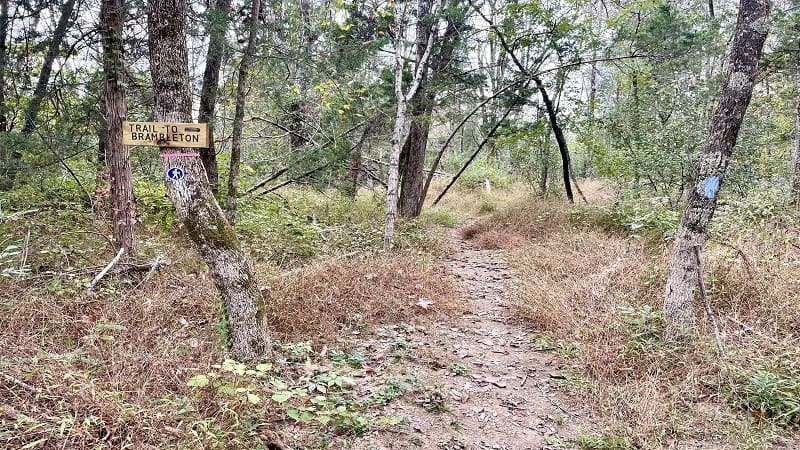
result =
[[[236,112],[233,115],[233,136],[231,141],[231,165],[228,174],[228,202],[225,215],[231,225],[236,223],[236,206],[239,196],[239,166],[242,162],[242,128],[244,126],[244,105],[247,97],[247,75],[253,64],[253,53],[256,48],[258,36],[258,17],[261,11],[261,1],[253,0],[252,11],[247,37],[247,47],[244,49],[242,61],[239,64],[239,81],[236,84]]]

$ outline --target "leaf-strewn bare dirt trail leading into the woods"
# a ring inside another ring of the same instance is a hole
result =
[[[405,426],[353,448],[572,448],[579,430],[593,427],[555,389],[563,377],[553,357],[509,319],[513,273],[498,252],[475,248],[458,231],[447,235],[445,264],[465,284],[472,312],[427,328],[394,328],[369,344],[375,350],[401,339],[413,348],[399,375],[413,375],[421,387],[383,411]]]

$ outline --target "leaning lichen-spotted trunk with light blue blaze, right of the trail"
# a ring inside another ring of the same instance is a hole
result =
[[[731,45],[728,74],[711,118],[708,140],[700,153],[694,185],[686,202],[669,263],[664,321],[667,336],[692,328],[694,289],[697,285],[695,247],[702,247],[717,206],[717,193],[725,177],[750,97],[758,60],[767,37],[769,0],[741,0]]]

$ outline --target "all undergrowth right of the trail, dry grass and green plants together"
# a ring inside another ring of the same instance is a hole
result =
[[[595,405],[609,435],[637,448],[779,444],[774,436],[800,426],[796,213],[759,198],[725,203],[715,217],[703,264],[719,356],[699,299],[695,338],[662,339],[679,211],[658,200],[615,202],[597,188],[584,187],[589,205],[506,201],[464,237],[507,252],[518,271],[514,314],[543,350],[563,356],[565,387]]]

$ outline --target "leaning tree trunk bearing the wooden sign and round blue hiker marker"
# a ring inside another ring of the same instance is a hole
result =
[[[156,120],[189,122],[192,100],[186,0],[150,0],[147,17]],[[270,351],[264,299],[236,232],[211,192],[203,163],[189,156],[165,156],[161,160],[167,194],[189,238],[208,264],[225,305],[234,356],[242,361],[257,360]]]

